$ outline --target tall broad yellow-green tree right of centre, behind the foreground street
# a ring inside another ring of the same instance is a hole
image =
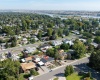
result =
[[[73,49],[75,50],[76,58],[81,58],[86,53],[86,46],[79,40],[74,42]]]

